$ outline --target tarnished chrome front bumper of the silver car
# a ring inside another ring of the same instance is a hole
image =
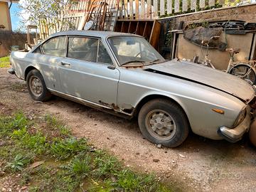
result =
[[[220,127],[218,129],[218,134],[223,137],[224,139],[228,140],[228,142],[238,142],[240,139],[242,139],[243,134],[245,132],[248,132],[250,129],[250,124],[252,120],[252,115],[250,114],[250,108],[247,107],[246,110],[246,116],[243,121],[238,124],[237,127],[229,128],[229,127]]]

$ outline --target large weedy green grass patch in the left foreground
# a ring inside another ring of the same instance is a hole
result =
[[[91,150],[85,139],[71,136],[50,114],[33,121],[22,112],[0,114],[0,126],[0,142],[5,142],[0,146],[0,172],[14,176],[12,172],[20,171],[16,184],[30,183],[28,191],[171,191],[153,175],[138,174],[107,152]],[[48,137],[46,130],[58,136]],[[35,161],[44,163],[31,166]]]

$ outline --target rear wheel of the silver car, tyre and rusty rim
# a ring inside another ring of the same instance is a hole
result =
[[[38,70],[34,69],[28,73],[26,83],[28,86],[28,92],[33,100],[43,102],[49,100],[52,96],[46,87],[43,76]]]

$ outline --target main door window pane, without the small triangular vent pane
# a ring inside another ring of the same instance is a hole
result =
[[[68,58],[97,62],[97,38],[68,38]]]

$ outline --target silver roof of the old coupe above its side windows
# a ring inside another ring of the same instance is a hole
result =
[[[112,31],[61,31],[58,33],[54,33],[49,36],[52,38],[54,36],[93,36],[93,37],[100,37],[100,38],[108,38],[110,36],[138,36],[131,33],[120,33],[120,32],[112,32]],[[140,37],[140,36],[138,36]]]

